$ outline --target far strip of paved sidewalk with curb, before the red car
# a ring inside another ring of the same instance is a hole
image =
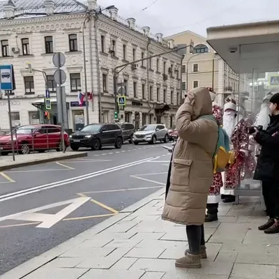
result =
[[[12,169],[14,167],[24,167],[28,165],[37,165],[56,160],[65,160],[72,158],[86,157],[87,152],[46,152],[46,153],[30,153],[27,155],[15,155],[15,161],[13,156],[0,156],[0,171],[6,169]]]

